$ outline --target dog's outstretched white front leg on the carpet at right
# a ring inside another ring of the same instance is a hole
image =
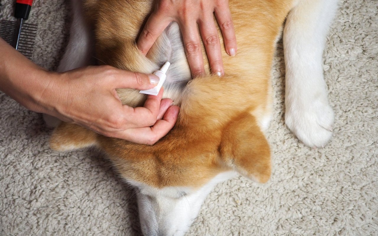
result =
[[[299,0],[283,33],[286,65],[285,123],[310,147],[332,136],[334,113],[327,99],[322,52],[337,0]]]

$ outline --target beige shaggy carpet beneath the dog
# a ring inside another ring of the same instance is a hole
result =
[[[12,19],[14,0],[0,2]],[[70,7],[35,0],[34,61],[55,69]],[[282,43],[273,66],[274,119],[268,140],[273,176],[216,186],[187,235],[378,235],[378,2],[343,2],[324,53],[332,141],[305,147],[284,124]],[[133,190],[101,154],[58,153],[40,114],[0,93],[0,235],[140,235]]]

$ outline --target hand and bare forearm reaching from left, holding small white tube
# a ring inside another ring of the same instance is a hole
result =
[[[171,99],[147,96],[143,107],[122,105],[116,88],[153,88],[159,77],[88,66],[49,72],[0,38],[0,91],[29,110],[73,122],[105,136],[153,144],[176,123],[179,108]]]

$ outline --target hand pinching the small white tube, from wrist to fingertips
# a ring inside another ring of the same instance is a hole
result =
[[[157,96],[147,96],[143,107],[132,108],[122,105],[116,88],[145,90],[153,88],[158,80],[152,74],[88,66],[57,74],[41,100],[50,107],[49,114],[66,122],[105,136],[153,144],[175,125],[178,106],[170,106],[171,99],[161,99],[161,89]]]

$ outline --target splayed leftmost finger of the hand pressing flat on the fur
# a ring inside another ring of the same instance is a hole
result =
[[[156,39],[164,31],[164,29],[167,28],[170,22],[172,21],[167,17],[156,12],[152,12],[146,22],[146,25],[144,25],[141,34],[139,35],[138,42],[136,42],[136,45],[144,56],[147,55],[147,52],[152,47],[153,43],[155,43]]]

